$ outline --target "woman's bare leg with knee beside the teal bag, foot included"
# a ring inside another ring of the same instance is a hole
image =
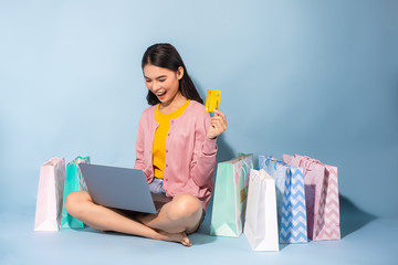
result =
[[[65,210],[93,229],[139,235],[154,240],[175,241],[190,245],[185,233],[157,231],[129,219],[112,209],[95,204],[86,191],[72,192],[66,197]]]

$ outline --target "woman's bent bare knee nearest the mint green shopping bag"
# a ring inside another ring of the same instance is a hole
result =
[[[199,224],[202,215],[200,201],[190,194],[181,194],[172,198],[157,214],[139,216],[143,224],[166,231],[168,233],[192,233]]]

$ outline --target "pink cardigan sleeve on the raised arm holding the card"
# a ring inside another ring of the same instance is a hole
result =
[[[195,128],[195,149],[190,174],[199,187],[212,188],[212,173],[216,167],[217,144],[216,139],[206,137],[210,126],[210,114],[202,112],[197,116]]]

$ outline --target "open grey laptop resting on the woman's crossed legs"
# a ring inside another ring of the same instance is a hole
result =
[[[142,170],[78,165],[93,202],[144,213],[157,213],[147,179]],[[160,194],[154,194],[154,197]]]

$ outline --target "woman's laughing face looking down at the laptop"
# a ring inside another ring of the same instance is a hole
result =
[[[145,84],[161,105],[169,105],[180,94],[178,91],[179,80],[182,78],[184,68],[179,67],[177,72],[168,68],[158,67],[151,64],[144,66]]]

